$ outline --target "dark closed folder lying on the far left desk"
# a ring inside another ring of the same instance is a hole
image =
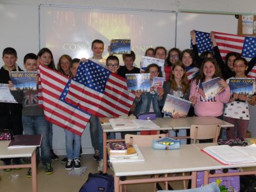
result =
[[[17,134],[7,148],[40,147],[41,142],[42,134]]]

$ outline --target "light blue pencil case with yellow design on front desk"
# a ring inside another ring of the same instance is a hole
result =
[[[152,141],[152,148],[154,149],[179,149],[180,140],[173,140],[172,138],[162,138]]]

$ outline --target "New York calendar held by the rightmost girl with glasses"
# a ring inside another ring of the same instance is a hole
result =
[[[237,93],[243,95],[253,95],[254,78],[235,78],[229,79],[228,85],[230,87],[230,93]]]

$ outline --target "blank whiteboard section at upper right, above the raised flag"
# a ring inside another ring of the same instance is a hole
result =
[[[237,34],[238,20],[234,15],[210,13],[178,13],[177,15],[177,47],[180,50],[190,49],[190,31],[218,31]]]

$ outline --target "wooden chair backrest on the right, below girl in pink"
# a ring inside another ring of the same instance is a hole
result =
[[[218,136],[220,134],[220,124],[211,125],[191,125],[190,126],[190,138],[194,140],[207,140],[213,139],[213,142],[218,141]]]

